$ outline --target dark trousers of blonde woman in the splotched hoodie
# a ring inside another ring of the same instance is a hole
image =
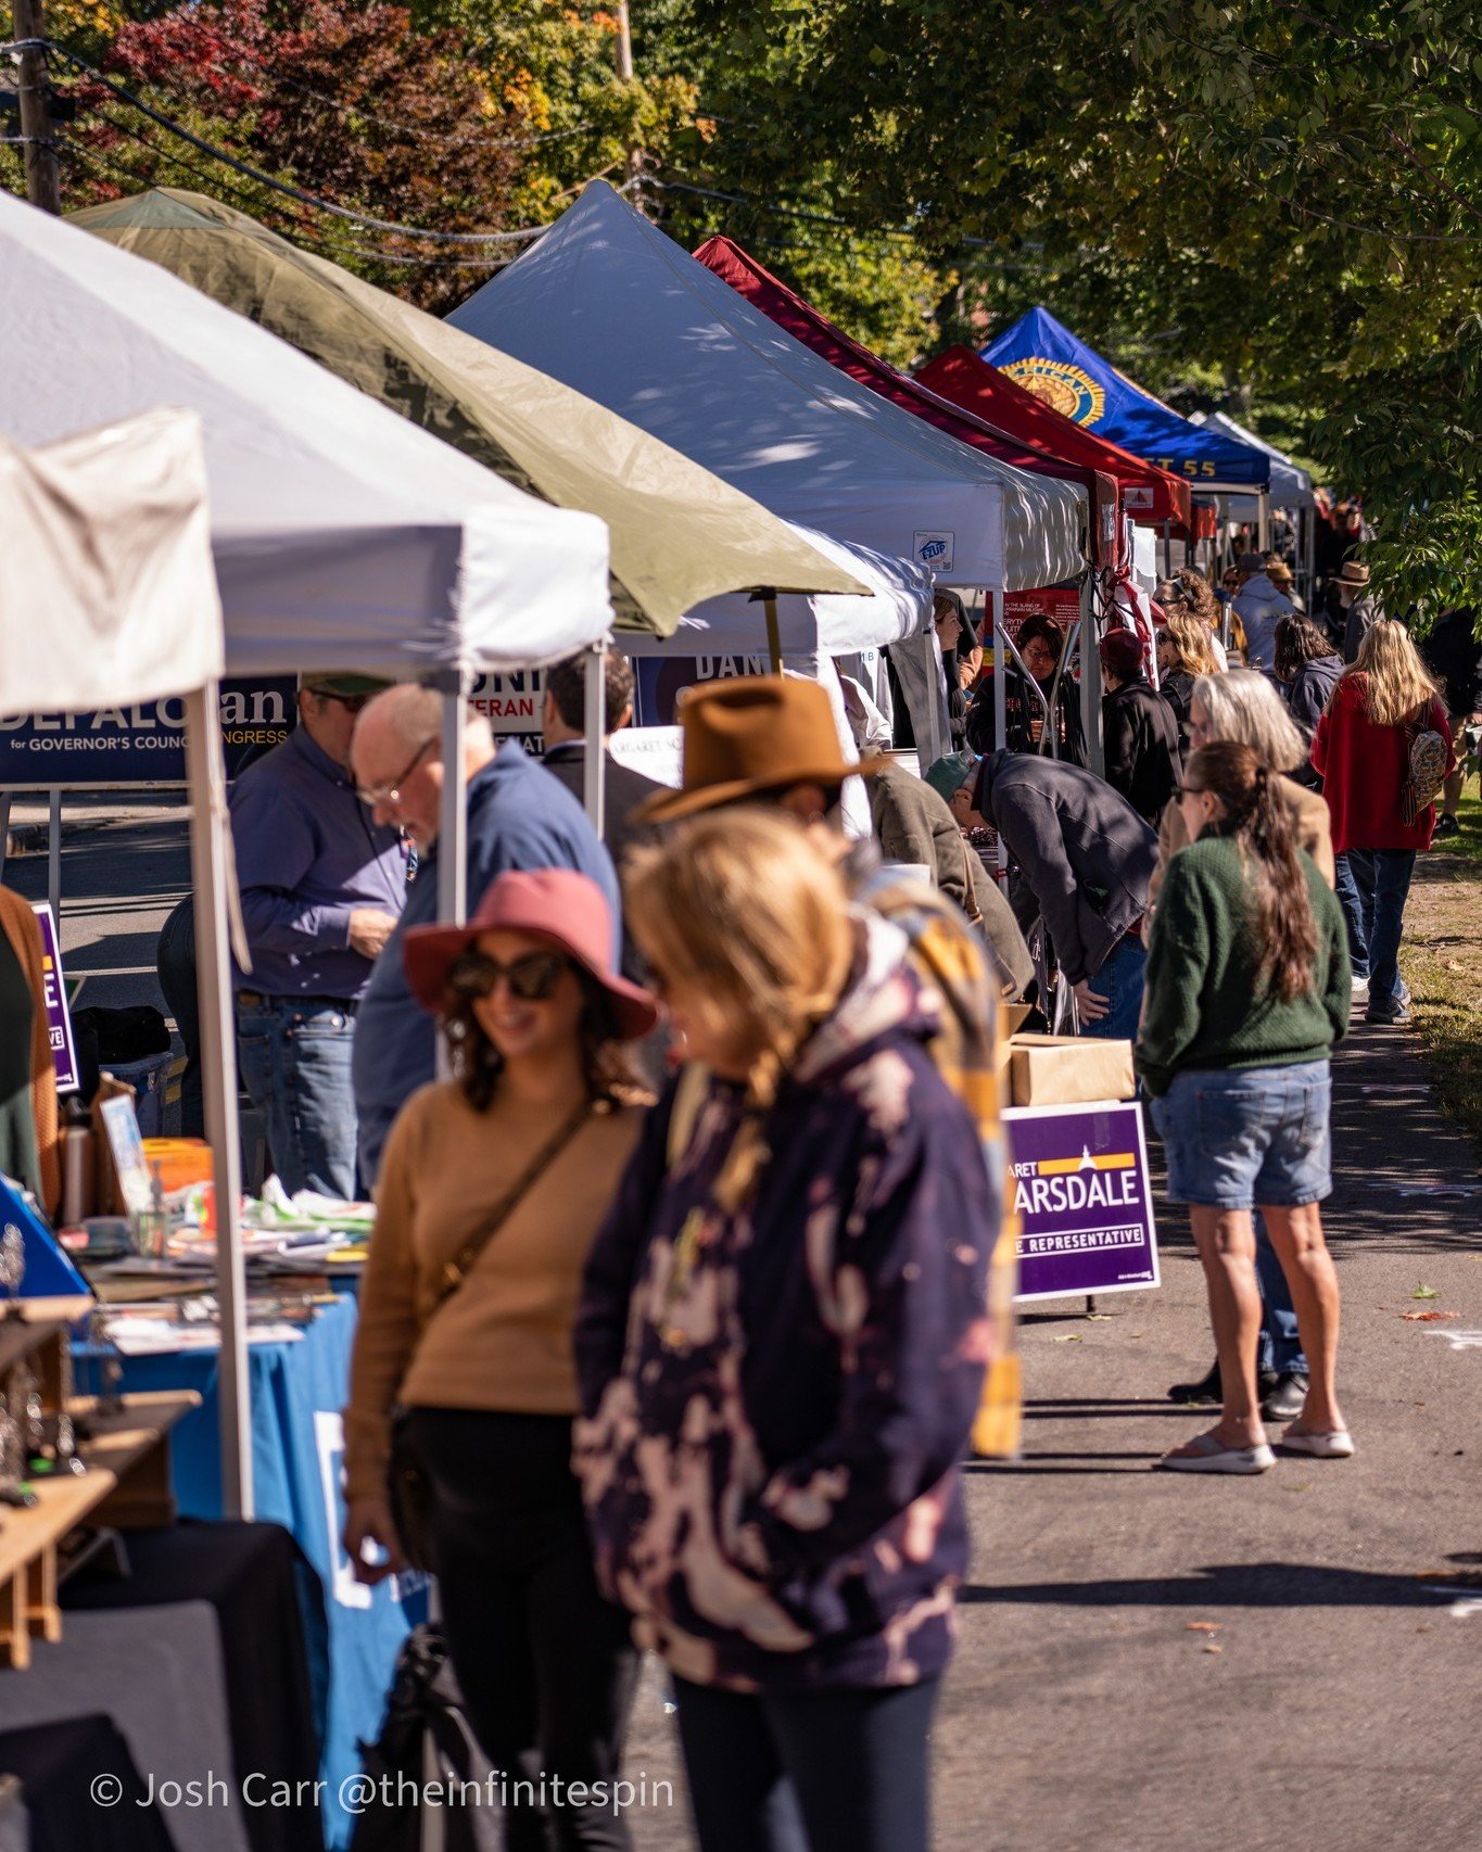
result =
[[[700,1852],[928,1852],[937,1683],[743,1693],[676,1678]]]

